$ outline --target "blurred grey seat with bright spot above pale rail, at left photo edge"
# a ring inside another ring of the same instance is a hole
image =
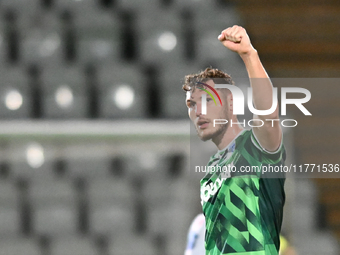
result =
[[[32,111],[32,95],[25,70],[20,67],[2,67],[0,75],[0,118],[29,118]]]

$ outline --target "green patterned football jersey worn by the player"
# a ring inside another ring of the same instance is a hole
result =
[[[285,157],[283,144],[267,152],[243,130],[210,158],[201,180],[206,255],[278,254],[285,174],[266,177],[261,169],[280,167]]]

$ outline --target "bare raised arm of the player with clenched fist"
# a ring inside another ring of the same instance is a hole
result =
[[[229,27],[221,32],[218,39],[225,47],[238,53],[242,58],[253,89],[255,109],[270,109],[273,101],[273,86],[246,30],[240,26]],[[272,114],[254,116],[254,119],[261,119],[264,122],[262,127],[253,128],[262,147],[268,151],[278,149],[282,136],[279,121],[266,121],[268,119],[279,119],[278,106]]]

